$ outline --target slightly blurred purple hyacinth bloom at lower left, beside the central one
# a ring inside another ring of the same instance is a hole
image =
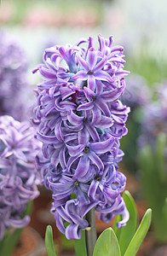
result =
[[[35,156],[40,143],[34,129],[10,116],[0,117],[0,240],[9,227],[22,228],[30,217],[26,204],[39,195],[41,176]]]

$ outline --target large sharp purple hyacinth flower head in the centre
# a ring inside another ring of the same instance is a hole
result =
[[[127,133],[130,112],[118,98],[128,72],[123,47],[113,46],[112,37],[98,40],[99,49],[93,38],[45,49],[44,63],[33,71],[43,78],[34,109],[45,158],[39,164],[53,191],[51,212],[67,239],[81,237],[80,230],[89,226],[84,216],[94,207],[105,222],[122,214],[118,227],[129,219],[120,195],[126,177],[117,171],[124,155],[119,139]]]

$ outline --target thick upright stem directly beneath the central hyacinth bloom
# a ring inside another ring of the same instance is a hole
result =
[[[95,228],[95,208],[91,209],[86,214],[86,219],[89,222],[89,228],[86,229],[86,246],[88,256],[92,256],[94,252],[95,242],[97,239]]]

